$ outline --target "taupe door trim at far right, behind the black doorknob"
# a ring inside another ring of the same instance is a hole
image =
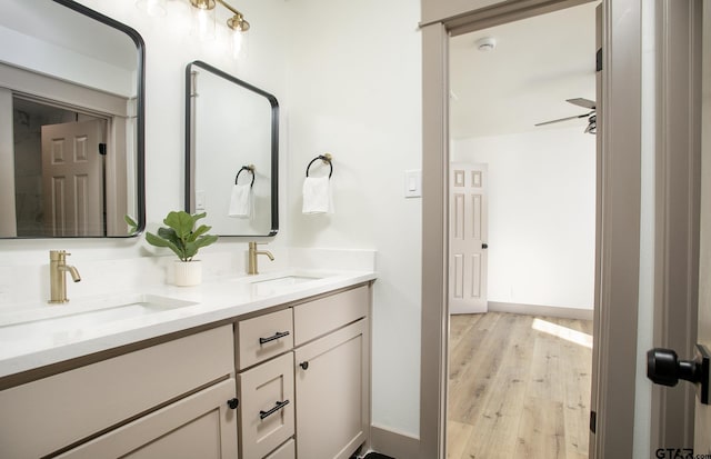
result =
[[[702,0],[655,8],[653,346],[691,358],[699,303]],[[651,450],[693,447],[693,386],[653,386],[651,397]]]

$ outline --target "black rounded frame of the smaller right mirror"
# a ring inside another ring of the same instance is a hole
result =
[[[192,168],[194,167],[192,146],[192,110],[190,101],[191,68],[200,67],[244,89],[263,96],[271,104],[271,229],[268,235],[220,235],[220,237],[271,237],[279,232],[279,102],[277,98],[239,78],[210,66],[200,60],[190,62],[186,67],[186,211],[194,212],[194,188]]]

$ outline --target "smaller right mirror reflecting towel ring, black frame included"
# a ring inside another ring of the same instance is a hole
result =
[[[279,230],[279,103],[202,61],[186,69],[186,210],[211,233]]]

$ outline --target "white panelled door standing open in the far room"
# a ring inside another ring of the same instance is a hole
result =
[[[449,311],[487,312],[488,164],[450,164]]]

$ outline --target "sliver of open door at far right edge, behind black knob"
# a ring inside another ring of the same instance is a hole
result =
[[[701,231],[699,242],[698,341],[711,349],[711,4],[702,2]],[[694,453],[711,455],[711,406],[697,397]],[[701,457],[701,456],[697,456]]]

